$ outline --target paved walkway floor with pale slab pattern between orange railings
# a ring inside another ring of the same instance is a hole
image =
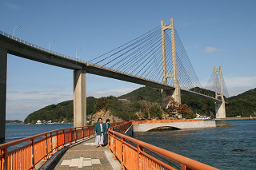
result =
[[[95,138],[69,148],[54,170],[112,170],[121,169],[118,160],[114,160],[112,152],[106,147],[96,148]]]

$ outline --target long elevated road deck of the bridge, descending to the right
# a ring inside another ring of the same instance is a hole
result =
[[[94,65],[93,63],[75,59],[63,55],[61,53],[55,53],[44,49],[38,45],[30,44],[18,38],[14,38],[9,34],[3,35],[4,33],[0,32],[0,48],[6,49],[7,53],[13,54],[18,57],[23,57],[33,61],[42,62],[49,65],[54,65],[66,69],[83,69],[86,70],[86,73],[92,73],[98,76],[110,77],[117,80],[128,81],[136,83],[139,85],[147,85],[157,89],[166,89],[174,90],[174,86],[165,85],[157,81],[151,81],[143,77],[137,77],[130,73],[122,73],[118,70],[109,69],[107,67],[102,67],[101,65]],[[194,97],[201,97],[210,101],[215,101],[221,103],[221,100],[216,99],[215,97],[209,97],[202,93],[197,93],[194,91],[181,89],[181,93],[186,93]]]

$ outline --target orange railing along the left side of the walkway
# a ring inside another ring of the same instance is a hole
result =
[[[111,125],[118,126],[122,123]],[[48,159],[59,148],[90,136],[94,136],[94,125],[62,128],[0,144],[0,169],[33,169],[40,160]],[[21,144],[22,146],[18,147]],[[11,147],[15,149],[11,150]]]

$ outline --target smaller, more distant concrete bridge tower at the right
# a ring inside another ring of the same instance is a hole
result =
[[[216,73],[219,72],[219,77],[221,81],[221,93],[218,94],[217,91],[217,75]],[[215,85],[215,98],[222,97],[222,103],[215,102],[215,113],[216,113],[216,118],[221,119],[221,118],[226,118],[226,108],[225,108],[225,98],[223,95],[223,86],[222,86],[222,69],[221,66],[219,66],[218,69],[215,68],[214,66],[214,85]]]

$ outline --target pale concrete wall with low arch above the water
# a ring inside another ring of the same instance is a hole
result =
[[[168,123],[150,123],[150,124],[134,124],[134,132],[146,132],[152,128],[170,126],[174,128],[216,128],[215,121],[187,121],[187,122],[168,122]]]

